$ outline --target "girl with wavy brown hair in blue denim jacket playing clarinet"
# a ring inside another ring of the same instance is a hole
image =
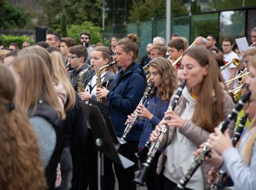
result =
[[[161,119],[164,117],[164,112],[170,104],[170,97],[178,87],[175,68],[173,68],[168,59],[157,57],[150,62],[149,67],[150,81],[148,83],[153,83],[154,85],[144,105],[139,104],[137,106],[136,111],[138,116],[142,116],[142,120],[136,122],[134,126],[134,128],[142,131],[140,134],[139,150],[145,146],[150,138],[150,133],[154,130],[155,126],[161,122]],[[128,116],[128,120],[125,124],[130,122],[132,116]],[[145,181],[148,190],[164,189],[164,175],[162,173],[160,175],[156,174],[157,160],[162,151],[163,149],[157,150],[152,161],[153,163],[150,166],[150,171],[148,171]],[[141,161],[145,160],[145,156],[142,157]]]

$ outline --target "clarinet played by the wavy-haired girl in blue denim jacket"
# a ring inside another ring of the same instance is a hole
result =
[[[153,82],[152,82],[150,85],[148,85],[148,88],[147,88],[147,90],[145,91],[144,96],[142,97],[142,99],[140,99],[139,104],[144,104],[145,100],[147,100],[148,94],[150,93],[152,87],[153,87]],[[136,119],[137,119],[137,115],[138,115],[137,111],[134,110],[134,111],[133,111],[133,118],[130,120],[129,123],[127,123],[127,125],[126,125],[126,127],[125,127],[125,131],[123,131],[123,135],[122,135],[122,137],[121,137],[122,140],[125,140],[125,137],[126,137],[127,134],[130,132],[131,128],[133,127],[134,122],[135,122]],[[120,146],[121,146],[120,143],[118,143],[118,144],[116,145],[117,151],[119,151]]]

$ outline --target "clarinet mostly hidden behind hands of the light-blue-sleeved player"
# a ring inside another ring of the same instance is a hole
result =
[[[235,145],[237,145],[238,140],[240,139],[241,133],[243,132],[244,129],[244,125],[246,123],[247,120],[247,114],[244,115],[244,117],[240,117],[239,121],[239,125],[237,130],[235,131],[235,136],[232,139],[232,144],[235,147]],[[216,174],[216,179],[214,180],[214,182],[212,183],[212,185],[210,185],[210,190],[218,190],[220,188],[220,183],[223,180],[223,178],[227,175],[226,172],[224,172],[223,170],[218,171],[218,173]]]

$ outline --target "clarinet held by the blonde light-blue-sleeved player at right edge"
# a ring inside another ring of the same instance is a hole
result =
[[[237,117],[240,110],[242,110],[244,103],[249,100],[249,97],[251,95],[251,91],[248,91],[246,94],[244,94],[241,99],[238,101],[235,108],[232,109],[232,112],[227,115],[227,118],[220,123],[219,128],[221,129],[221,132],[224,133],[224,131],[227,129],[227,125],[229,125],[231,120],[234,120],[235,117]],[[196,169],[199,168],[201,163],[204,161],[205,157],[210,154],[210,148],[204,145],[204,148],[202,148],[202,151],[200,154],[195,157],[194,161],[190,165],[189,169],[185,172],[184,177],[182,177],[181,180],[179,180],[178,185],[176,186],[175,190],[184,189],[185,185],[189,182],[193,174],[196,172]]]

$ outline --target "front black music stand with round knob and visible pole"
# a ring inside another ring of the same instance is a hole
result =
[[[117,152],[108,127],[106,126],[106,121],[99,108],[83,102],[80,102],[80,105],[83,109],[83,113],[85,113],[89,125],[91,126],[95,144],[98,148],[98,189],[100,189],[100,179],[103,179],[103,176],[100,174],[100,172],[103,171],[103,156],[100,154],[105,154],[105,156],[113,162],[116,162],[125,169],[133,166],[134,162],[126,159],[126,157]]]

